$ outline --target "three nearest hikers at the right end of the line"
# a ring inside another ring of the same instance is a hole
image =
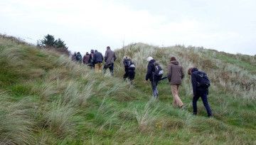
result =
[[[156,63],[154,58],[150,57],[147,58],[149,62],[147,65],[147,73],[146,73],[146,81],[151,81],[151,88],[154,97],[158,97],[159,92],[157,90],[157,85],[160,80],[163,80],[165,77],[162,78],[164,71],[161,69],[159,63]],[[208,104],[208,87],[210,87],[210,80],[208,76],[203,71],[198,70],[198,68],[189,68],[188,75],[191,75],[191,83],[193,87],[193,114],[197,114],[197,101],[201,97],[203,101],[204,107],[206,107],[206,112],[208,117],[212,117],[212,112],[210,109],[210,105]],[[174,101],[173,106],[183,108],[183,102],[181,101],[180,97],[178,96],[178,88],[181,85],[181,80],[184,77],[183,68],[181,65],[178,64],[178,61],[175,57],[171,57],[170,63],[168,65],[168,73],[167,78],[169,80],[169,84],[171,85],[171,93],[173,95]]]

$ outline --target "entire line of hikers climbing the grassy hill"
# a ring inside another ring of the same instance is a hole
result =
[[[100,73],[102,70],[105,73],[107,68],[109,68],[111,75],[114,75],[114,61],[117,59],[117,57],[114,51],[110,49],[110,46],[107,46],[105,57],[103,57],[102,53],[98,52],[97,50],[91,50],[90,54],[86,53],[83,57],[79,52],[74,53],[72,59],[78,61],[79,63],[84,63],[92,69],[95,69],[96,73]],[[103,60],[105,60],[105,65],[102,69]],[[156,63],[156,60],[154,60],[154,58],[151,56],[149,56],[146,60],[148,61],[148,65],[145,81],[150,80],[153,97],[158,98],[159,96],[159,92],[157,90],[159,81],[168,78],[169,84],[171,85],[171,93],[174,98],[173,106],[183,108],[183,102],[178,96],[178,88],[181,85],[184,77],[183,67],[179,65],[175,57],[171,57],[168,65],[167,76],[162,77],[164,70],[162,70],[159,63]],[[123,78],[124,80],[130,80],[131,84],[133,84],[135,76],[135,64],[133,63],[132,58],[129,58],[127,55],[124,56],[122,61],[124,64]],[[197,68],[189,68],[188,75],[191,75],[191,83],[193,87],[193,114],[197,114],[197,101],[201,97],[203,105],[206,107],[208,117],[212,117],[213,114],[207,99],[210,80],[208,79],[206,73],[198,70]]]

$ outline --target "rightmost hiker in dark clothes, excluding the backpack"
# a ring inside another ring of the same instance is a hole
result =
[[[198,101],[199,97],[201,97],[203,105],[206,107],[208,117],[211,117],[213,114],[207,100],[208,88],[198,86],[198,80],[200,79],[198,73],[203,72],[199,72],[197,68],[188,69],[188,75],[191,75],[191,83],[193,87],[193,114],[197,114],[196,102]]]

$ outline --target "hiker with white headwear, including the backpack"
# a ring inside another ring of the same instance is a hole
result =
[[[153,96],[157,98],[159,96],[157,85],[159,80],[161,80],[161,76],[163,75],[164,71],[161,69],[160,65],[156,63],[156,60],[154,60],[154,58],[151,56],[149,56],[149,58],[146,60],[149,62],[147,65],[146,81],[151,81]]]

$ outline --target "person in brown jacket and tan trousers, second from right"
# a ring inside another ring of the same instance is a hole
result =
[[[183,68],[178,65],[178,61],[175,57],[171,57],[171,62],[168,66],[168,80],[171,85],[171,93],[174,97],[174,107],[183,107],[183,102],[178,97],[178,87],[181,85],[181,80],[184,77]]]

